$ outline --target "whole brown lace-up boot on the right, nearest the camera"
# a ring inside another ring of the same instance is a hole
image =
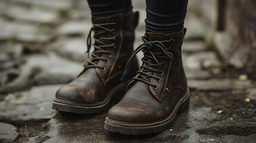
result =
[[[124,134],[156,133],[168,129],[178,111],[189,107],[189,89],[181,61],[186,29],[161,34],[146,32],[125,70],[138,51],[144,57],[140,70],[127,87],[122,100],[110,108],[104,128]]]

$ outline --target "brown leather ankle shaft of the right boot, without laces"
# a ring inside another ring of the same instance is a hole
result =
[[[150,87],[152,94],[158,98],[159,101],[164,100],[166,95],[172,90],[181,89],[181,95],[187,92],[187,79],[183,69],[183,63],[181,59],[181,45],[183,43],[183,38],[186,33],[186,29],[180,32],[174,32],[169,34],[162,33],[150,33],[146,32],[145,37],[147,41],[172,41],[163,44],[168,49],[174,60],[169,59],[166,62],[166,68],[164,68],[163,75],[158,75],[161,77],[161,82],[159,80],[152,79],[150,82],[157,85],[158,88]],[[159,49],[154,49],[158,51]],[[161,69],[158,67],[157,69]]]

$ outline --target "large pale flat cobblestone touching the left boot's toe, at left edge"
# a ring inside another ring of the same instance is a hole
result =
[[[34,86],[30,91],[9,94],[0,102],[0,120],[18,125],[36,124],[53,118],[53,95],[60,85]]]

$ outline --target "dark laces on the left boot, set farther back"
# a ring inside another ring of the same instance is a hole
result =
[[[88,60],[88,68],[89,67],[98,67],[101,70],[104,70],[105,67],[101,67],[98,66],[97,63],[99,60],[103,60],[103,61],[109,61],[107,58],[102,58],[100,57],[102,54],[113,54],[111,51],[106,51],[106,48],[115,48],[115,40],[116,40],[116,36],[110,37],[110,38],[98,38],[98,36],[100,35],[107,35],[107,33],[111,33],[114,34],[115,33],[115,29],[107,29],[106,27],[109,25],[115,25],[115,22],[111,22],[111,23],[104,23],[104,24],[94,24],[91,27],[91,30],[88,34],[88,38],[87,38],[87,54],[88,54],[88,58],[90,57],[90,49],[91,49],[91,32],[94,31],[94,52],[91,53],[92,55],[92,60]],[[109,42],[110,41],[110,42]],[[85,67],[86,63],[84,64]]]

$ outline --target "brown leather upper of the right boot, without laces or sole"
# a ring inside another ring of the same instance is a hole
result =
[[[159,79],[149,79],[152,85],[132,80],[127,88],[127,93],[122,100],[110,108],[108,119],[114,122],[127,123],[131,125],[138,124],[154,124],[165,120],[169,117],[180,101],[187,95],[187,80],[184,73],[181,60],[181,45],[183,43],[184,33],[186,29],[180,32],[162,34],[162,33],[145,33],[147,41],[169,41],[172,43],[164,43],[168,52],[174,57],[165,60],[158,58],[159,63],[166,63],[164,66],[157,66],[156,70],[163,72],[152,72]],[[149,49],[152,52],[160,52],[158,47]],[[144,69],[141,68],[143,71]],[[138,77],[137,74],[136,77]]]

